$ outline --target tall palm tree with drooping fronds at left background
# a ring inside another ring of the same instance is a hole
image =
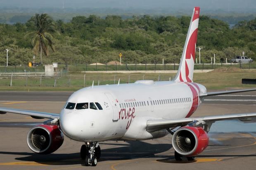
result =
[[[36,14],[36,16],[32,17],[32,21],[34,22],[36,31],[26,34],[25,37],[33,35],[31,40],[33,52],[37,54],[38,51],[40,51],[40,61],[41,64],[43,64],[42,53],[48,56],[48,47],[50,47],[52,51],[55,51],[53,46],[53,37],[50,33],[54,33],[56,28],[52,18],[47,14]]]

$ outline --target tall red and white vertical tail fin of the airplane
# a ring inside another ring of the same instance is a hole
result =
[[[175,82],[193,82],[199,12],[200,8],[194,7]]]

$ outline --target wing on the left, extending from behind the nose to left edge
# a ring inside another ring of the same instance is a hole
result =
[[[15,114],[24,114],[24,115],[32,116],[33,118],[36,118],[36,119],[43,119],[43,118],[59,119],[59,114],[57,113],[36,112],[31,110],[9,109],[5,107],[0,107],[0,114],[6,114],[7,112],[15,113]]]

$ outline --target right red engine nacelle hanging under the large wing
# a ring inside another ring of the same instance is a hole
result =
[[[209,137],[201,127],[185,126],[173,134],[173,149],[183,156],[196,156],[209,144]]]

